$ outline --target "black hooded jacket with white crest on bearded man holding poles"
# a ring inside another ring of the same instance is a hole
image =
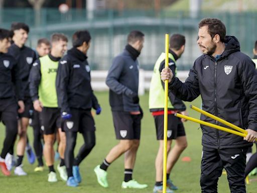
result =
[[[252,60],[240,52],[237,39],[226,36],[226,48],[216,61],[210,55],[195,60],[185,83],[174,78],[169,89],[183,101],[201,94],[202,109],[243,129],[257,131],[257,72]],[[223,124],[201,115],[201,120]],[[210,148],[250,146],[242,137],[201,125],[202,145]]]

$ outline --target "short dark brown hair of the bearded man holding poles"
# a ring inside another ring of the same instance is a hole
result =
[[[220,41],[225,42],[226,27],[219,19],[204,18],[198,24],[199,28],[203,26],[207,26],[208,33],[210,34],[211,38],[214,38],[214,36],[218,34],[220,37]]]

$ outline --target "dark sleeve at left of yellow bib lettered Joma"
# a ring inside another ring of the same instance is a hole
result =
[[[31,67],[29,76],[30,96],[32,101],[39,99],[38,88],[41,81],[40,60],[36,60]]]

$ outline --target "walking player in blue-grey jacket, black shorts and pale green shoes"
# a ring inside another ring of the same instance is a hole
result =
[[[119,143],[107,154],[101,165],[94,169],[98,183],[108,187],[107,168],[125,153],[124,181],[122,188],[145,188],[132,178],[140,143],[141,119],[143,112],[139,105],[139,63],[138,56],[143,48],[144,34],[132,31],[127,36],[125,50],[113,59],[108,71],[106,84],[109,86],[109,102],[113,117],[116,139]]]

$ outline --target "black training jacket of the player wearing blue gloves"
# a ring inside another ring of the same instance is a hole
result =
[[[77,48],[72,48],[59,61],[56,91],[62,112],[70,113],[70,108],[90,110],[99,107],[91,87],[90,66],[86,58]]]

